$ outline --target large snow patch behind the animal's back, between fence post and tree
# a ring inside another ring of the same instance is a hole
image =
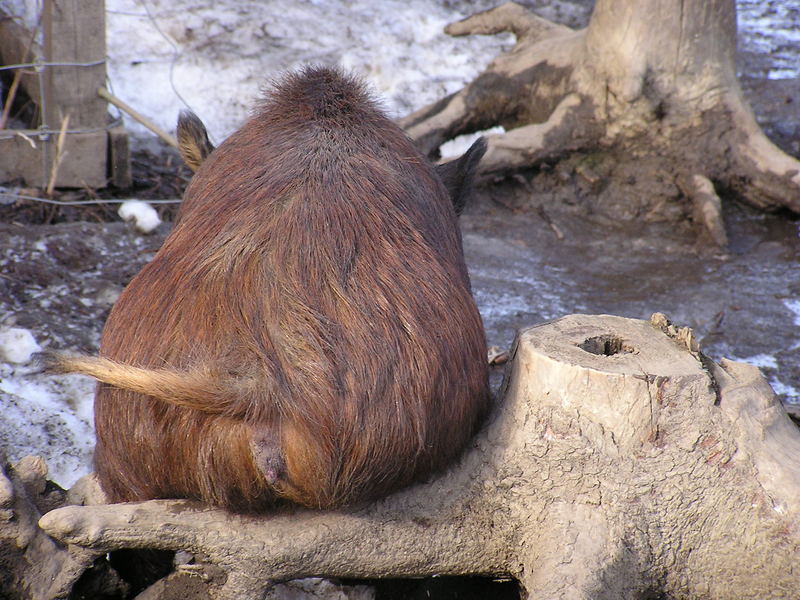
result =
[[[466,2],[352,0],[107,0],[112,91],[167,131],[189,107],[219,143],[241,126],[260,89],[307,64],[340,65],[366,79],[391,116],[464,86],[511,47],[511,34],[453,38]],[[125,118],[139,138],[152,139]]]

